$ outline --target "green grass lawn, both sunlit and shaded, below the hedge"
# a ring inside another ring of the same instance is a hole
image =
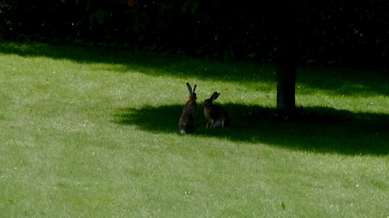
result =
[[[275,67],[0,43],[2,217],[389,217],[389,76],[300,67],[296,104],[264,119]],[[178,122],[197,84],[200,128]],[[205,130],[200,102],[230,113]],[[284,207],[281,206],[284,205]]]

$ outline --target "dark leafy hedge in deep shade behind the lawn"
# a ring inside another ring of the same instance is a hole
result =
[[[298,0],[295,6],[300,61],[385,63],[389,3]],[[0,37],[272,60],[277,11],[273,1],[19,0],[0,3]]]

